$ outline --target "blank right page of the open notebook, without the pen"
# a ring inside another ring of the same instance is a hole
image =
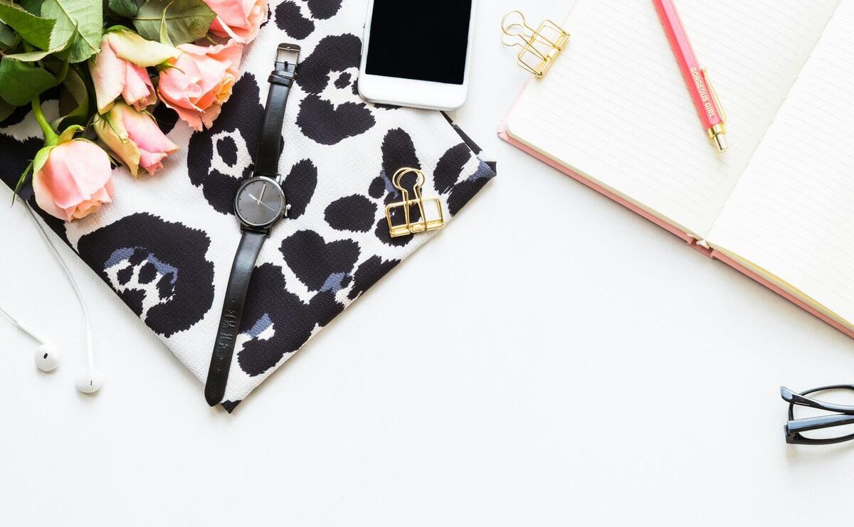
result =
[[[854,3],[839,5],[709,235],[854,325]]]

